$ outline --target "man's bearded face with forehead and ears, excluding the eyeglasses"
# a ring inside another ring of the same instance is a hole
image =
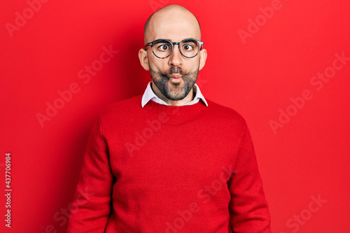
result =
[[[145,41],[147,40],[146,43],[148,43],[160,38],[172,42],[181,42],[186,38],[200,40],[197,20],[192,14],[182,10],[162,11],[151,20]],[[197,80],[198,71],[204,66],[207,55],[205,50],[201,50],[196,57],[183,57],[179,51],[179,45],[174,45],[172,54],[165,59],[155,57],[151,46],[148,46],[145,52],[146,67],[144,64],[143,66],[151,73],[155,85],[153,90],[158,89],[171,100],[181,100],[188,96]]]

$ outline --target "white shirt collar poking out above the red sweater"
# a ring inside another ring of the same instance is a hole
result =
[[[144,108],[144,106],[150,100],[153,100],[158,104],[169,105],[169,104],[165,103],[165,101],[163,101],[162,99],[160,99],[158,96],[155,95],[155,93],[153,92],[153,90],[151,88],[151,83],[152,83],[152,81],[148,83],[147,88],[144,92],[144,95],[142,96],[142,101],[141,101],[142,108]],[[188,102],[187,104],[183,104],[183,106],[197,104],[198,101],[200,101],[200,99],[202,99],[204,101],[205,105],[208,106],[207,101],[204,99],[202,93],[200,92],[200,87],[198,87],[198,85],[196,83],[195,83],[195,85],[193,85],[193,91],[195,92],[195,99],[193,99],[193,101]]]

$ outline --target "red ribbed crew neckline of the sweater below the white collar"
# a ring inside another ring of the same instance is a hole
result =
[[[205,108],[207,108],[207,106],[204,104],[202,99],[200,99],[200,101],[198,101],[196,104],[185,106],[158,104],[150,99],[144,108],[148,111],[153,111],[158,114],[162,113],[165,115],[195,115],[203,111]]]

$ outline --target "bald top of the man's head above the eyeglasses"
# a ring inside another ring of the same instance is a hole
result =
[[[200,40],[200,22],[190,10],[183,6],[175,4],[165,6],[155,11],[146,21],[144,42],[146,44],[158,38],[176,38],[176,32],[182,32],[185,38]]]

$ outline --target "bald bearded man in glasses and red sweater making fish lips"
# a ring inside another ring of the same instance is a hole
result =
[[[94,124],[68,232],[271,232],[245,120],[195,84],[207,51],[179,5],[147,20],[143,95]]]

